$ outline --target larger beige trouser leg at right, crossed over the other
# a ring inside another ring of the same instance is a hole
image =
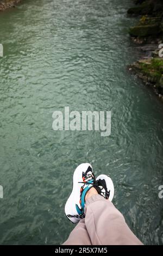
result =
[[[92,245],[142,245],[109,200],[91,190],[86,196],[85,225]]]

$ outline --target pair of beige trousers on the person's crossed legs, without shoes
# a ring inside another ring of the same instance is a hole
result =
[[[63,245],[142,245],[115,206],[99,194],[86,200],[80,220]]]

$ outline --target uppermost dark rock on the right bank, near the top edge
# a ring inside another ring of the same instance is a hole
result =
[[[132,7],[128,9],[127,13],[128,14],[133,14],[133,15],[146,15],[146,14],[152,14],[153,13],[153,8],[154,5],[153,3],[142,3],[139,4],[135,7]]]

